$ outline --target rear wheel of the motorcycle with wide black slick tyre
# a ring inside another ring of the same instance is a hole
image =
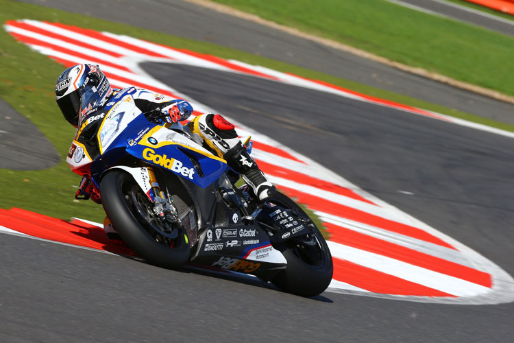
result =
[[[332,255],[323,235],[312,220],[308,219],[305,211],[284,194],[277,192],[269,202],[295,211],[306,219],[310,228],[310,233],[289,239],[275,247],[286,258],[287,267],[271,279],[271,283],[284,292],[299,296],[321,294],[330,285],[334,270]]]

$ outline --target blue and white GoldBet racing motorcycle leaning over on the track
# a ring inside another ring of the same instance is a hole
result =
[[[77,198],[101,203],[123,241],[148,263],[186,263],[253,274],[315,296],[332,280],[316,225],[282,193],[264,204],[188,126],[141,113],[125,88],[90,113],[66,162],[84,176]],[[245,147],[251,152],[249,138]]]

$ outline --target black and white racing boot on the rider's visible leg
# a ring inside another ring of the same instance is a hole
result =
[[[223,158],[225,158],[229,167],[243,176],[243,180],[252,187],[260,202],[265,202],[275,195],[275,186],[267,180],[254,158],[248,154],[246,148],[241,144],[241,141],[228,150]]]

